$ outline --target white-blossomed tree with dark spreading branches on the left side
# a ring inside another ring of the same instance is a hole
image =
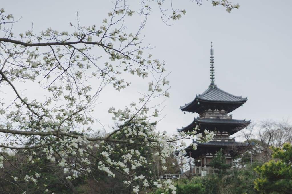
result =
[[[145,54],[151,47],[140,38],[151,12],[147,2],[141,1],[137,13],[126,1],[117,0],[98,27],[82,27],[77,18],[76,25],[70,22],[71,32],[48,28],[39,34],[27,30],[14,35],[17,22],[0,10],[0,172],[9,169],[11,175],[1,178],[16,185],[18,192],[45,179],[41,170],[46,163],[73,193],[77,191],[72,181],[96,180],[102,173],[123,176],[132,193],[151,188],[175,193],[171,180],[162,181],[159,174],[167,169],[167,158],[185,154],[185,144],[178,140],[212,139],[207,131],[202,137],[196,130],[167,135],[156,129],[155,119],[169,97],[169,81],[164,62]],[[157,1],[163,22],[186,13],[172,5],[168,12],[164,2]],[[227,9],[239,7],[212,2]],[[133,14],[145,17],[135,32],[128,32],[125,21]],[[99,116],[105,113],[94,112],[98,97],[108,86],[117,93],[131,86],[128,75],[145,80],[148,88],[123,110],[109,107],[117,127],[103,134]],[[161,170],[150,165],[157,162]],[[44,192],[53,189],[43,186]]]

